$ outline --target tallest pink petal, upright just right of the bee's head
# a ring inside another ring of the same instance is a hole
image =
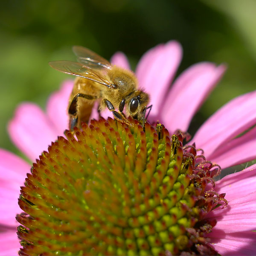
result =
[[[180,64],[182,49],[176,41],[160,44],[146,52],[136,70],[139,87],[150,94],[149,120],[156,121],[163,99]]]

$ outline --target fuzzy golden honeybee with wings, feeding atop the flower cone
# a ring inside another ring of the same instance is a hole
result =
[[[99,102],[99,113],[108,108],[120,122],[129,124],[125,115],[130,115],[144,125],[149,96],[143,90],[137,89],[135,74],[111,65],[85,47],[74,46],[73,52],[78,62],[49,62],[54,69],[77,76],[68,105],[70,130],[73,131],[75,126],[81,127],[81,122],[89,121],[96,101]],[[148,108],[151,109],[151,106]]]

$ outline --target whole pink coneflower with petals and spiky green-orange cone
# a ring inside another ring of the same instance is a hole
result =
[[[72,81],[50,97],[47,113],[32,103],[17,108],[9,134],[35,164],[30,173],[30,164],[0,151],[1,255],[256,254],[256,165],[213,180],[218,165],[256,158],[256,92],[227,103],[184,144],[225,67],[195,64],[169,90],[181,52],[175,41],[158,45],[136,70],[153,104],[148,121],[167,129],[100,119],[58,137]],[[112,63],[129,68],[122,53]]]

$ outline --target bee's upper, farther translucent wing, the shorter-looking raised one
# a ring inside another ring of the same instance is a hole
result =
[[[73,52],[76,54],[78,62],[93,69],[101,69],[102,67],[111,68],[111,64],[95,52],[82,46],[73,46]]]

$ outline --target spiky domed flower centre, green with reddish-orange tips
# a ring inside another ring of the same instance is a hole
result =
[[[207,212],[220,171],[182,133],[92,120],[58,137],[27,174],[20,255],[217,255]],[[189,255],[189,254],[188,254]]]

